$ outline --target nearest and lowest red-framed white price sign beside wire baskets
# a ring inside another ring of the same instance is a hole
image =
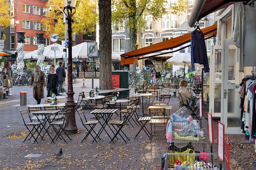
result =
[[[224,162],[225,131],[224,124],[218,121],[218,157]]]

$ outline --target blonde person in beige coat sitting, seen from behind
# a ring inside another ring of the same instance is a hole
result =
[[[178,89],[179,98],[178,101],[180,101],[180,107],[182,104],[188,105],[190,98],[192,96],[192,93],[188,90],[188,85],[186,80],[181,80],[179,84],[180,88]]]

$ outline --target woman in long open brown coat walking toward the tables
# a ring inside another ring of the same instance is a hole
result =
[[[37,104],[41,103],[41,98],[44,98],[44,87],[46,86],[44,73],[41,67],[36,65],[35,71],[32,74],[30,81],[30,88],[33,85],[33,97],[36,99]]]

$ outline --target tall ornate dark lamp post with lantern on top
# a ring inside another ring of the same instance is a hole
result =
[[[66,94],[68,95],[68,99],[66,101],[66,108],[73,108],[72,111],[66,115],[66,120],[68,120],[68,124],[64,129],[68,133],[76,133],[78,128],[76,126],[75,121],[75,102],[74,102],[74,90],[73,90],[73,79],[72,79],[72,17],[75,10],[76,0],[63,0],[64,10],[66,10],[66,20],[68,21],[68,91]]]

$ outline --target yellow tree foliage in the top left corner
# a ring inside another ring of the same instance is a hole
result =
[[[0,0],[0,26],[1,29],[10,26],[10,3],[6,2],[6,0]],[[0,37],[1,39],[1,37]],[[5,35],[3,35],[3,39],[5,39]]]

